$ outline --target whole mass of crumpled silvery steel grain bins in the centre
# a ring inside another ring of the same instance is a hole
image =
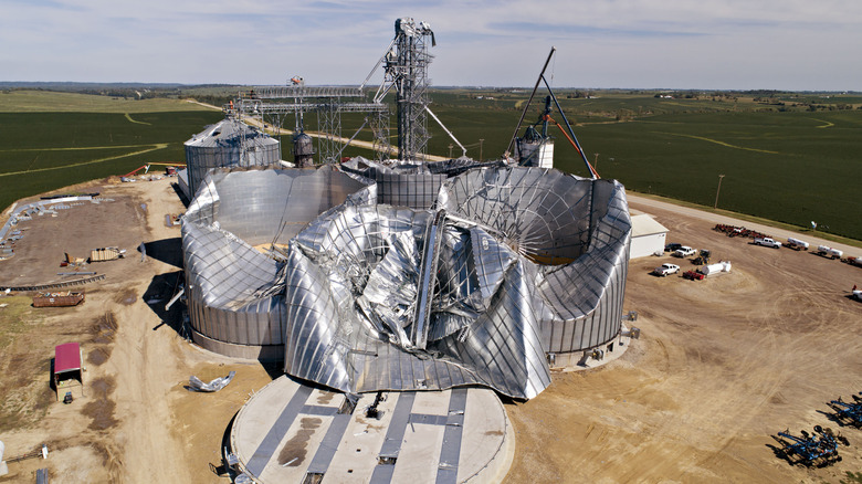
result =
[[[348,393],[535,397],[548,354],[620,333],[624,190],[465,164],[210,175],[182,225],[193,337],[278,348],[287,373]]]

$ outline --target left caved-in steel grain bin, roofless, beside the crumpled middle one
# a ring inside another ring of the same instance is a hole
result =
[[[330,168],[211,173],[182,218],[192,339],[222,355],[281,359],[281,254],[311,220],[365,187]]]

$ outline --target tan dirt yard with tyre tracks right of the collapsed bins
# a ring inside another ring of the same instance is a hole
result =
[[[669,242],[711,249],[733,270],[693,282],[649,274],[662,262],[692,269],[688,261],[632,261],[624,308],[638,312],[641,338],[620,359],[557,373],[537,398],[507,406],[517,451],[506,481],[840,482],[861,471],[862,431],[823,412],[862,390],[862,303],[848,297],[862,269],[729,239],[684,210],[630,203],[669,228]],[[776,456],[771,434],[816,424],[850,440],[842,462],[806,469]]]

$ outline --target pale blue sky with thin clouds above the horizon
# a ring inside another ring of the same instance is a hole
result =
[[[401,17],[435,86],[862,91],[856,0],[0,0],[0,81],[356,85]]]

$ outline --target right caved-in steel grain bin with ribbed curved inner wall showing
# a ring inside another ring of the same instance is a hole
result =
[[[487,168],[449,180],[441,206],[547,264],[538,296],[547,351],[579,351],[619,334],[631,236],[622,185],[553,169]]]

